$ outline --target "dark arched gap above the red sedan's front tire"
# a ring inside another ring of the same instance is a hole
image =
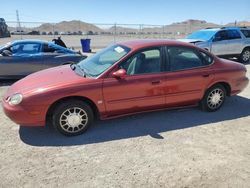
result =
[[[100,117],[99,110],[96,104],[92,100],[83,96],[68,96],[68,97],[63,97],[63,98],[58,99],[57,101],[55,101],[49,106],[47,113],[46,113],[46,122],[50,120],[53,111],[59,104],[63,103],[64,101],[69,101],[69,100],[79,100],[79,101],[86,102],[93,110],[94,117],[99,119]]]

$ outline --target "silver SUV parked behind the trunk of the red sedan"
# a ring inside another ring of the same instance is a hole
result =
[[[237,57],[242,63],[250,60],[250,28],[202,29],[180,41],[194,43],[220,57]]]

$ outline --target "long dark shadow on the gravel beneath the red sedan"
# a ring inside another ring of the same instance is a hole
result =
[[[24,143],[39,147],[86,145],[148,135],[155,139],[164,139],[160,133],[249,115],[250,99],[234,96],[228,98],[219,111],[213,113],[189,108],[97,121],[85,134],[76,137],[65,137],[51,127],[20,127],[19,134]]]

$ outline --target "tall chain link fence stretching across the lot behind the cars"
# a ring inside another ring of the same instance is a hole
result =
[[[172,25],[105,24],[64,21],[60,23],[6,21],[11,39],[52,40],[61,36],[66,45],[80,49],[80,39],[91,39],[91,48],[100,49],[109,44],[133,39],[176,39],[207,25],[176,23]],[[1,41],[2,40],[2,41]],[[2,44],[3,39],[0,40]],[[5,39],[8,40],[8,39]]]

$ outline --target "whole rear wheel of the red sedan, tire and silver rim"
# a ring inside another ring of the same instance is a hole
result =
[[[200,107],[204,111],[215,112],[221,108],[226,99],[225,88],[217,84],[209,88],[200,102]]]

